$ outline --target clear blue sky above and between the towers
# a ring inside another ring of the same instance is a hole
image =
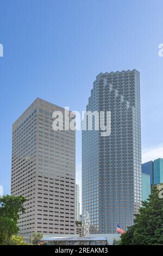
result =
[[[41,97],[84,111],[99,72],[141,74],[143,160],[163,157],[162,0],[1,0],[0,185],[10,193],[12,123]],[[77,181],[81,172],[77,132]]]

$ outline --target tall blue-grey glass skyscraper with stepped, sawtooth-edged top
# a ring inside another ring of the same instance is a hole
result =
[[[82,132],[82,211],[91,233],[117,233],[117,223],[133,224],[142,200],[139,72],[100,73],[86,111],[111,111],[111,134]]]

